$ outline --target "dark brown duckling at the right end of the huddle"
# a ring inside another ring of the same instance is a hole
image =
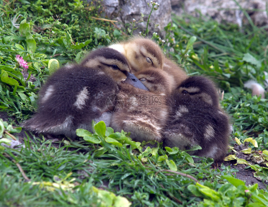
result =
[[[192,155],[222,160],[229,143],[231,127],[227,114],[220,108],[212,81],[191,76],[184,80],[170,98],[171,113],[163,133],[163,146],[201,150]]]

